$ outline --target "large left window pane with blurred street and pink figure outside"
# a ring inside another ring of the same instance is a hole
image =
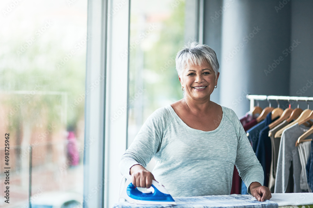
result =
[[[0,8],[0,206],[79,205],[87,0]]]

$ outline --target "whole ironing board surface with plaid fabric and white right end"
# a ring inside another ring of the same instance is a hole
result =
[[[138,205],[126,202],[116,203],[113,208],[313,208],[313,193],[273,193],[271,200],[257,201],[251,195],[217,195],[173,197],[177,205]]]

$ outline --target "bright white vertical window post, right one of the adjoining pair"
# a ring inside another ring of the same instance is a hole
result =
[[[108,9],[105,207],[112,207],[118,201],[122,178],[118,164],[127,141],[130,1],[111,0]]]

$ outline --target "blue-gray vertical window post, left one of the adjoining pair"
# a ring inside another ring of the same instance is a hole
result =
[[[107,0],[88,0],[84,207],[104,206]]]

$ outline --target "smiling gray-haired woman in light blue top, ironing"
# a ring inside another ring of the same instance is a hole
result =
[[[271,198],[263,169],[233,110],[210,101],[218,84],[215,52],[193,42],[176,56],[184,98],[157,109],[121,158],[134,186],[162,182],[172,196],[229,195],[233,166],[257,200]],[[156,160],[152,173],[145,169]]]

